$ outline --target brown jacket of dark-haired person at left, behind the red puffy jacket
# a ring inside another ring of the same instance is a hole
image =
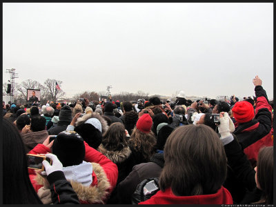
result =
[[[42,144],[43,141],[48,137],[46,130],[38,132],[28,132],[22,135],[22,140],[25,146],[26,153],[32,150],[37,144]]]

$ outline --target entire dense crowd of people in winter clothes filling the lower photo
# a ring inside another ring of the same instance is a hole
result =
[[[253,84],[243,101],[3,103],[3,204],[273,204],[273,102]]]

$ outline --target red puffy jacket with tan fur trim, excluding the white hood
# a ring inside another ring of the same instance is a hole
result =
[[[70,181],[72,188],[79,197],[81,204],[105,204],[108,196],[115,188],[118,179],[118,168],[110,159],[88,146],[84,141],[86,155],[84,161],[92,164],[92,183],[90,186],[83,186],[76,181]],[[43,144],[38,144],[30,154],[46,154],[50,152],[50,148]],[[34,170],[29,169],[30,180],[37,193],[40,193],[40,188],[48,190],[49,186],[43,185],[41,176],[36,175]],[[44,193],[44,192],[43,192]],[[43,194],[41,193],[41,195]]]

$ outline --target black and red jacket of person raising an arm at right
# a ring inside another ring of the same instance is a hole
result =
[[[257,97],[255,119],[237,124],[233,132],[253,166],[256,165],[259,149],[263,146],[273,146],[272,107],[262,86],[255,87],[255,95]]]

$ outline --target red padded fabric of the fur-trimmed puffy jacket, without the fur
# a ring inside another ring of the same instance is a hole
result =
[[[99,166],[103,169],[104,173],[106,174],[106,177],[108,179],[108,182],[110,184],[110,188],[107,189],[106,192],[111,193],[112,190],[115,188],[117,184],[118,179],[118,168],[117,165],[114,164],[110,159],[108,159],[106,156],[101,154],[101,152],[98,152],[94,148],[90,147],[85,141],[84,146],[86,148],[86,155],[84,157],[84,161],[96,163],[99,164]],[[37,154],[46,154],[47,152],[51,152],[50,148],[44,146],[43,144],[38,144],[36,147],[34,147],[33,150],[29,152],[29,154],[37,155]],[[34,170],[29,170],[29,177],[30,181],[32,182],[32,186],[34,186],[34,190],[38,192],[39,188],[43,187],[41,184],[37,184],[37,181],[35,180],[37,175]],[[102,181],[98,181],[99,178],[97,178],[97,175],[95,173],[95,168],[93,167],[92,172],[92,184],[90,186],[99,186]],[[100,179],[103,179],[102,176]],[[76,192],[77,193],[77,192]],[[83,193],[83,192],[81,192]],[[103,195],[103,193],[101,193]],[[88,199],[90,202],[86,201],[85,199],[81,200],[82,204],[91,204],[93,203],[91,198]],[[96,201],[97,203],[97,201]]]

